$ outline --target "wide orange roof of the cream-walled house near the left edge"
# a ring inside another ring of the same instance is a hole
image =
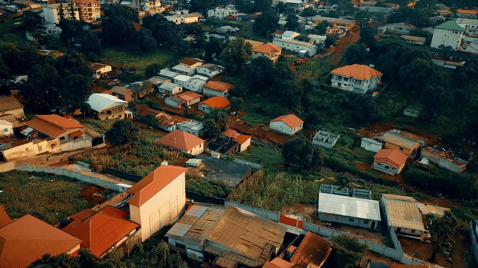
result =
[[[37,115],[37,118],[26,122],[25,125],[51,137],[57,137],[67,129],[85,128],[85,126],[58,114]]]

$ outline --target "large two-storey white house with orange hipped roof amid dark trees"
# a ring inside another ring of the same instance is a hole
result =
[[[332,86],[357,94],[376,90],[382,84],[382,73],[363,64],[346,65],[336,68],[332,74]]]

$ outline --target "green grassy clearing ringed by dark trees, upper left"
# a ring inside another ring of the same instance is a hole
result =
[[[135,67],[140,74],[144,74],[149,65],[167,65],[174,56],[174,50],[166,47],[160,47],[149,54],[135,54],[124,46],[110,46],[103,48],[102,62],[114,67]]]

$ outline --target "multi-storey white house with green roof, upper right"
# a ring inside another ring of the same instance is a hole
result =
[[[455,20],[448,20],[440,25],[435,26],[433,38],[430,47],[438,48],[441,45],[450,46],[457,49],[461,45],[465,29],[458,25]]]

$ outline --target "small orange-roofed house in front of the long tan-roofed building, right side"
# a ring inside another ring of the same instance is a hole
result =
[[[408,156],[395,149],[382,149],[374,156],[374,169],[390,175],[399,174]]]

